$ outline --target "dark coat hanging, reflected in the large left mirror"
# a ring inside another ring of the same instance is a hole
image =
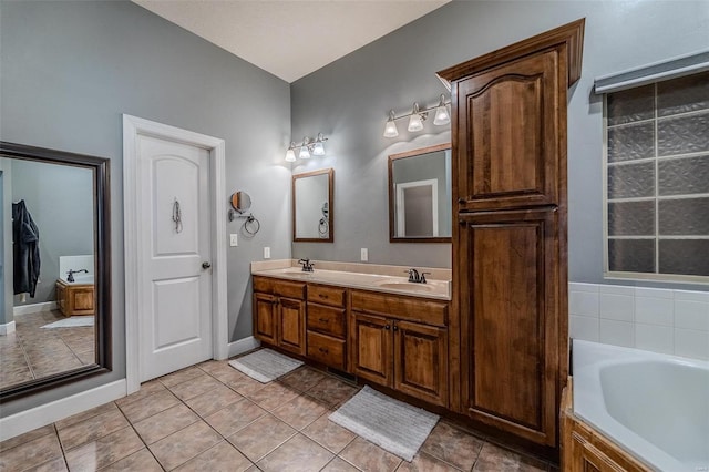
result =
[[[12,204],[12,250],[14,256],[14,295],[34,297],[40,278],[40,232],[24,201]]]

